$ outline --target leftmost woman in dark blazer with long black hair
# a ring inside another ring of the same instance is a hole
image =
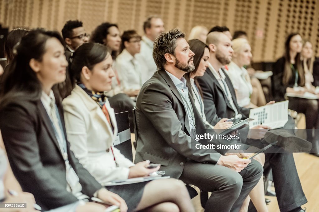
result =
[[[103,211],[102,205],[85,204],[93,196],[126,211],[124,200],[103,188],[70,151],[62,105],[52,90],[65,80],[68,65],[59,33],[32,30],[15,50],[2,90],[0,128],[22,189],[43,211]]]

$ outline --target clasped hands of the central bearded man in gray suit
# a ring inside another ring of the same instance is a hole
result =
[[[222,155],[217,164],[234,169],[236,172],[241,172],[250,162],[251,160],[241,159],[237,155]]]

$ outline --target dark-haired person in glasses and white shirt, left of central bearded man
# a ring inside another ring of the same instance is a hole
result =
[[[124,93],[137,91],[148,78],[147,66],[137,55],[141,48],[141,36],[135,30],[124,31],[122,35],[122,53],[117,56],[115,68],[121,80]]]

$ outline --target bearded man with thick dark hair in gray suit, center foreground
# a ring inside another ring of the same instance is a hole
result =
[[[183,78],[195,68],[194,53],[184,37],[174,29],[154,42],[157,72],[142,86],[135,106],[138,138],[134,162],[159,163],[166,175],[213,192],[205,211],[239,211],[259,181],[262,167],[255,160],[238,157],[246,154],[198,148],[203,146],[195,136],[203,133],[205,124],[193,110]]]

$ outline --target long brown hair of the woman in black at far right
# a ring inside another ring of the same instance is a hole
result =
[[[285,57],[285,66],[284,66],[284,74],[283,74],[283,79],[282,79],[282,83],[284,85],[288,85],[289,80],[292,78],[293,75],[293,71],[291,69],[291,63],[290,63],[290,41],[291,39],[296,36],[296,35],[300,35],[299,33],[291,33],[288,35],[286,42],[285,42],[285,53],[284,53],[284,57]],[[298,52],[296,54],[296,57],[294,58],[295,60],[295,66],[297,67],[297,70],[299,72],[299,79],[300,79],[300,86],[304,86],[305,85],[305,73],[303,71],[302,68],[302,64],[301,64],[301,59],[300,59],[300,52]]]

